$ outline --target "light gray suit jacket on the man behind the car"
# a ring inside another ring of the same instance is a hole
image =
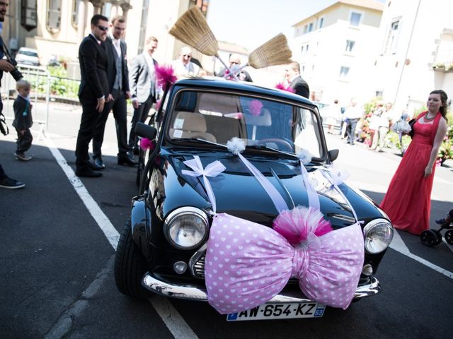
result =
[[[156,102],[156,73],[151,73],[147,64],[147,59],[142,54],[137,55],[132,61],[132,66],[129,71],[129,85],[130,94],[132,99],[137,97],[139,102],[147,101],[148,97],[152,94],[151,83],[154,83],[153,102]],[[153,59],[154,66],[157,61]]]

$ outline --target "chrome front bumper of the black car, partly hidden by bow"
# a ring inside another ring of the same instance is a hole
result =
[[[159,295],[164,295],[165,297],[172,297],[178,299],[186,300],[196,300],[200,302],[207,302],[207,292],[205,289],[194,286],[194,285],[176,285],[172,283],[167,283],[161,281],[147,273],[144,275],[142,280],[142,285],[147,290],[157,293]],[[381,291],[381,284],[376,278],[372,278],[371,282],[367,285],[361,285],[355,290],[354,299],[360,299],[363,297],[369,297],[372,295],[377,295]],[[300,291],[296,292],[280,292],[280,294],[275,295],[268,302],[270,303],[285,303],[285,302],[311,302],[312,300],[306,299],[300,296]]]

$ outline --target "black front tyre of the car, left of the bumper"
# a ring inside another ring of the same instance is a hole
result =
[[[147,291],[142,287],[142,278],[147,273],[147,266],[132,240],[130,220],[127,220],[118,242],[114,272],[116,287],[123,295],[137,299],[146,297]]]

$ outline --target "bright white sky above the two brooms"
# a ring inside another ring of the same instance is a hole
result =
[[[239,44],[251,52],[280,32],[288,38],[292,37],[292,25],[336,2],[337,0],[210,0],[207,23],[217,40]]]

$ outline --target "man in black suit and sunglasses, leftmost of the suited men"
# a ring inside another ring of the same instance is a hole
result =
[[[108,18],[96,14],[91,18],[91,33],[84,38],[79,47],[81,82],[79,100],[82,117],[76,144],[76,175],[78,177],[101,177],[100,169],[90,162],[88,145],[98,118],[108,100],[107,54],[102,42],[107,37]]]

